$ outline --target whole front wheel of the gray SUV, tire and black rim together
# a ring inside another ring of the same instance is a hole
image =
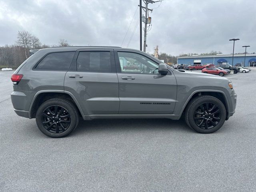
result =
[[[203,106],[203,109],[205,110],[207,107],[205,107],[204,105],[207,105],[207,103],[208,103],[207,113],[202,112],[200,106]],[[212,109],[214,105],[216,107]],[[198,110],[200,110],[200,113],[202,112],[202,114],[196,114]],[[212,114],[210,112],[212,112]],[[205,117],[206,117],[206,120],[204,119]],[[215,120],[215,118],[219,118],[218,122],[217,120]],[[210,122],[209,119],[211,119],[211,121],[214,122],[215,126],[212,124],[212,122]],[[197,96],[188,103],[188,106],[186,107],[186,110],[185,110],[185,120],[187,125],[196,132],[204,133],[204,134],[213,133],[219,130],[224,124],[226,120],[226,108],[224,104],[216,97],[209,96],[209,95]],[[200,126],[201,122],[202,122],[202,125]],[[209,127],[209,124],[210,124],[210,127]]]

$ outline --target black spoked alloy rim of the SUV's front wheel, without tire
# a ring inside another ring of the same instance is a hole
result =
[[[205,102],[198,106],[194,112],[194,122],[201,129],[214,128],[221,119],[220,109],[218,105]]]

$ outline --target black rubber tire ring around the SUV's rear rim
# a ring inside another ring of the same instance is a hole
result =
[[[58,105],[58,106],[62,106],[63,108],[65,108],[66,110],[68,110],[70,117],[71,117],[71,123],[68,127],[67,130],[65,130],[62,133],[52,133],[49,132],[48,130],[46,130],[44,128],[44,126],[42,125],[42,113],[44,112],[44,110],[50,106],[53,105]],[[68,134],[70,134],[75,128],[76,128],[76,124],[77,124],[77,116],[76,116],[76,112],[75,110],[72,108],[72,106],[70,106],[68,103],[62,101],[62,100],[48,100],[46,102],[44,102],[37,110],[36,112],[36,124],[39,128],[39,130],[50,137],[53,138],[60,138],[60,137],[64,137],[67,136]]]

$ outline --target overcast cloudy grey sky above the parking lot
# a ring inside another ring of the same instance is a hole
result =
[[[130,41],[128,48],[139,49],[139,24],[135,28],[138,3],[139,0],[0,0],[0,46],[14,44],[18,30],[27,30],[43,44],[58,44],[64,38],[76,46],[127,47]],[[152,53],[158,45],[159,52],[172,55],[211,50],[230,54],[230,38],[240,38],[235,52],[243,52],[243,45],[251,46],[248,52],[256,52],[255,0],[163,0],[149,4],[149,8],[153,12],[149,12],[152,28],[147,36],[147,52]]]

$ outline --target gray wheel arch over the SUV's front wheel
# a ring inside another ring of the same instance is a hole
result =
[[[190,100],[192,100],[194,97],[200,96],[200,95],[210,95],[210,96],[218,98],[224,104],[224,106],[226,108],[226,113],[228,115],[228,112],[230,111],[228,97],[226,96],[225,92],[223,92],[221,90],[196,90],[196,91],[192,92],[192,94],[190,94],[190,96],[186,100],[184,106],[182,107],[180,115],[182,115],[184,113]]]

